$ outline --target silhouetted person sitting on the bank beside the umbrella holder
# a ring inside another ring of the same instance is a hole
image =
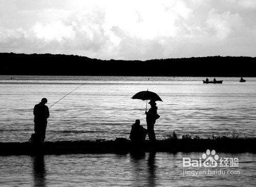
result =
[[[140,125],[140,120],[136,120],[132,125],[130,139],[132,142],[144,142],[147,130]]]

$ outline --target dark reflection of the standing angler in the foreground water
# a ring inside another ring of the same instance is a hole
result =
[[[45,184],[45,159],[44,155],[36,155],[33,159],[34,186],[46,186]]]

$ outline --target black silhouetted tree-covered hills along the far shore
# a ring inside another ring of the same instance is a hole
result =
[[[77,55],[0,53],[0,75],[256,77],[256,57],[99,60]]]

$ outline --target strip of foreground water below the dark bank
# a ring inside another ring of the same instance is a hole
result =
[[[218,153],[238,157],[240,175],[183,175],[182,157],[194,153],[69,154],[0,156],[1,186],[212,186],[255,185],[255,154]],[[186,168],[192,170],[195,168]],[[215,168],[223,169],[223,168]],[[215,170],[211,169],[211,170]],[[231,168],[225,168],[229,170]],[[231,170],[235,170],[231,169]],[[196,170],[199,170],[196,169]]]

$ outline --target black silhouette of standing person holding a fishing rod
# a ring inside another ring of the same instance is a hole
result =
[[[46,126],[47,118],[49,118],[49,109],[45,104],[47,103],[46,98],[42,98],[41,102],[34,107],[34,123],[35,123],[35,135],[43,143],[46,138]]]

